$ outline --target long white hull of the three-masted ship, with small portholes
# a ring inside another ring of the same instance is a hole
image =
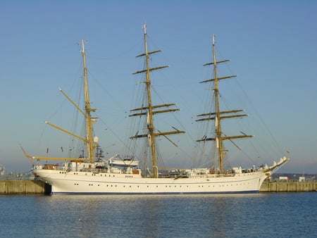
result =
[[[51,184],[51,194],[227,194],[259,192],[263,171],[230,177],[144,178],[118,173],[65,172],[35,169],[40,180]]]

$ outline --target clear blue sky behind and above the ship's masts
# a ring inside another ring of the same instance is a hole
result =
[[[244,102],[235,97],[241,87],[246,94],[242,95],[251,101],[242,103],[244,109],[259,115],[259,125],[253,125],[251,132],[268,142],[267,147],[260,142],[263,162],[271,163],[290,151],[287,156],[292,161],[280,171],[317,172],[315,1],[0,4],[0,163],[6,170],[30,170],[20,144],[36,155],[45,155],[47,147],[68,146],[68,137],[44,121],[71,125],[68,112],[73,108],[65,104],[58,87],[75,96],[75,82],[82,72],[80,39],[89,41],[89,89],[102,118],[96,127],[99,141],[109,155],[120,154],[128,137],[125,112],[132,107],[137,82],[132,73],[140,69],[135,56],[143,51],[146,22],[150,50],[162,50],[153,57],[154,65],[169,65],[154,85],[157,91],[164,90],[167,102],[181,108],[178,118],[190,137],[196,135],[195,115],[201,113],[201,94],[206,91],[197,82],[209,77],[202,65],[211,59],[211,35],[215,34],[218,58],[231,61],[224,69],[238,75],[225,91],[228,101],[234,106]],[[194,146],[176,141],[187,149]]]

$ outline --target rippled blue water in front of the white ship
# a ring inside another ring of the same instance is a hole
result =
[[[317,192],[0,196],[0,237],[317,237]]]

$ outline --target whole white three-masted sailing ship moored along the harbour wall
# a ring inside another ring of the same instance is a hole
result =
[[[280,158],[273,165],[262,165],[259,168],[243,169],[235,167],[227,169],[224,165],[224,157],[227,154],[224,141],[232,141],[244,137],[247,134],[237,136],[226,136],[223,134],[221,123],[228,118],[242,117],[241,110],[222,111],[219,105],[218,81],[232,77],[218,77],[217,65],[225,61],[216,61],[215,41],[213,37],[213,61],[206,65],[213,67],[213,78],[204,82],[212,82],[213,108],[215,111],[198,115],[197,121],[212,121],[214,128],[211,131],[213,137],[203,137],[197,142],[214,142],[216,154],[214,158],[218,161],[216,166],[207,168],[178,168],[173,170],[161,170],[158,165],[156,137],[185,133],[177,130],[161,132],[154,125],[154,115],[158,113],[173,113],[178,111],[175,104],[153,104],[151,96],[151,72],[160,70],[167,66],[151,68],[150,56],[160,51],[149,51],[147,44],[147,27],[144,25],[144,54],[137,57],[144,58],[144,70],[135,74],[144,75],[144,104],[139,108],[131,110],[130,117],[146,118],[144,121],[145,132],[136,132],[130,139],[144,139],[148,143],[150,164],[146,169],[141,168],[141,161],[133,157],[113,156],[104,159],[100,156],[100,148],[97,137],[93,134],[93,124],[96,118],[92,115],[97,109],[92,108],[89,101],[88,79],[85,41],[81,42],[81,53],[83,61],[83,84],[85,96],[85,109],[82,110],[66,93],[62,92],[70,102],[77,108],[85,118],[85,137],[80,137],[73,132],[64,130],[57,125],[47,124],[62,130],[73,137],[77,137],[86,144],[85,154],[78,158],[48,158],[44,156],[30,156],[24,150],[27,158],[35,161],[32,173],[39,180],[51,184],[51,194],[229,194],[229,193],[257,193],[263,180],[270,177],[281,165],[289,161],[288,158]],[[157,118],[156,118],[157,119]],[[168,139],[170,140],[170,139]],[[211,143],[210,143],[211,144]],[[42,164],[40,161],[51,160],[59,163]]]

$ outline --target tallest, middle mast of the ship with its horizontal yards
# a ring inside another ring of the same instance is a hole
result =
[[[144,70],[139,70],[135,74],[139,73],[145,73],[145,81],[143,82],[145,84],[145,89],[147,92],[147,106],[142,106],[141,108],[135,108],[132,109],[131,111],[139,111],[139,113],[134,113],[129,116],[140,116],[140,115],[146,115],[147,116],[147,134],[135,134],[135,136],[130,137],[130,139],[137,139],[141,137],[148,137],[149,139],[149,145],[151,146],[151,162],[152,162],[152,171],[153,171],[153,177],[158,177],[158,163],[157,163],[157,158],[156,158],[156,144],[155,144],[155,137],[159,136],[164,136],[168,134],[178,134],[178,133],[185,133],[185,131],[180,131],[180,130],[175,130],[171,132],[158,132],[155,131],[154,127],[154,114],[156,113],[167,113],[167,112],[173,112],[173,111],[179,111],[180,109],[174,108],[174,109],[164,109],[161,111],[155,111],[156,108],[163,108],[163,107],[169,107],[169,106],[175,106],[175,104],[162,104],[162,105],[153,105],[152,104],[152,99],[151,99],[151,71],[154,70],[159,70],[161,68],[166,68],[168,66],[159,66],[156,68],[150,68],[150,58],[149,55],[155,54],[158,52],[161,52],[161,50],[158,51],[149,51],[148,46],[147,46],[147,25],[143,25],[143,30],[144,30],[144,54],[140,54],[136,57],[145,57],[145,69]],[[167,138],[167,137],[166,137]],[[167,138],[168,139],[168,138]]]

